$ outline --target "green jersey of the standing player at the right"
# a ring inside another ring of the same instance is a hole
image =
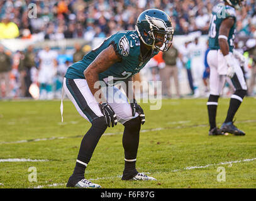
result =
[[[211,21],[209,24],[209,48],[211,50],[219,50],[220,45],[218,41],[220,25],[222,21],[226,18],[233,18],[235,23],[230,29],[230,33],[228,35],[228,46],[230,47],[230,52],[232,52],[234,48],[234,39],[235,39],[235,29],[237,26],[237,17],[235,8],[231,6],[225,6],[223,3],[216,4],[213,7],[213,11],[211,14]]]

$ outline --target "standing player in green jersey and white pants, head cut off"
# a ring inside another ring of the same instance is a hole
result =
[[[210,95],[207,102],[209,116],[209,135],[231,133],[245,135],[245,132],[233,124],[240,104],[247,93],[247,84],[241,64],[245,62],[243,55],[234,50],[235,29],[237,17],[235,9],[242,8],[241,0],[225,0],[213,7],[209,25],[209,53],[207,61],[210,67]],[[236,59],[238,58],[238,60]],[[216,111],[218,99],[226,79],[231,79],[235,89],[231,95],[230,105],[220,129],[216,127]]]

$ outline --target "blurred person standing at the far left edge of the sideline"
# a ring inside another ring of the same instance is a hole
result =
[[[10,72],[11,72],[11,57],[4,52],[4,46],[0,45],[0,81],[4,81],[5,92],[1,91],[0,87],[0,98],[1,97],[10,97]],[[0,82],[0,85],[1,85]]]

